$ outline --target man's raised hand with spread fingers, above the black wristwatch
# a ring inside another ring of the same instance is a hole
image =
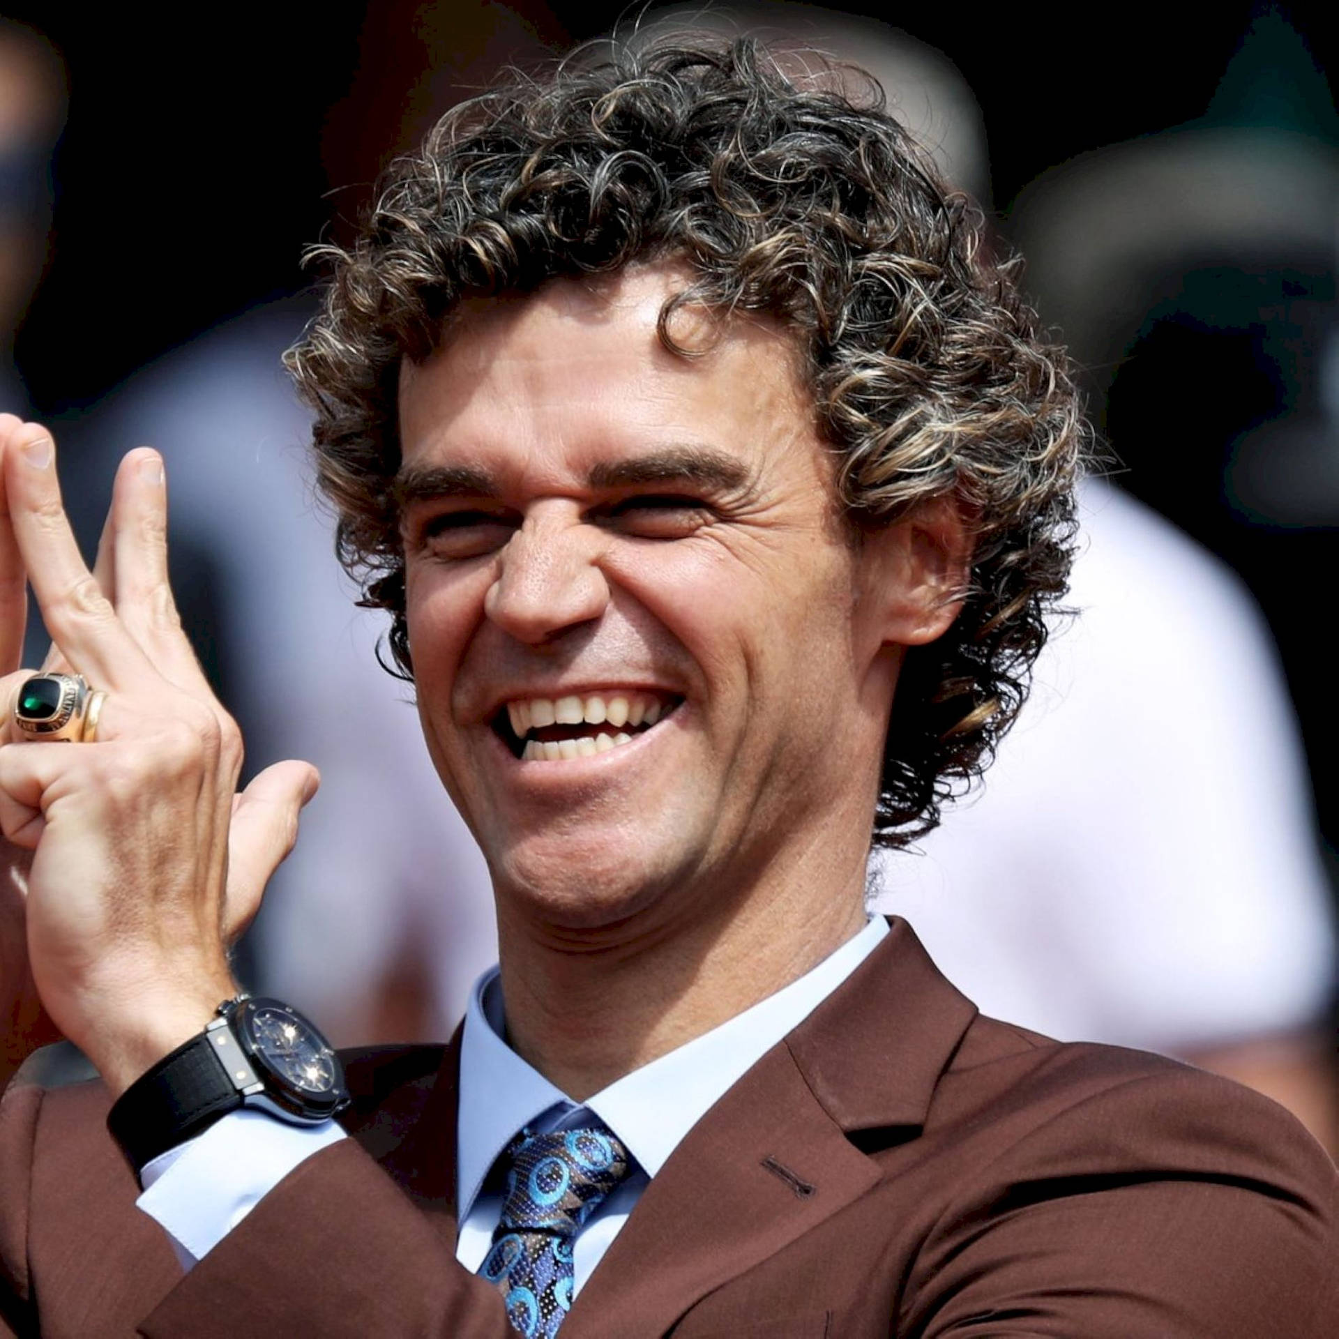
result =
[[[115,1094],[234,992],[228,945],[292,846],[316,773],[279,763],[236,794],[241,738],[167,581],[161,458],[122,462],[90,572],[51,435],[4,418],[0,451],[0,617],[21,620],[25,572],[59,657],[50,668],[107,694],[95,743],[27,742],[12,720],[27,672],[0,680],[0,829],[32,854],[24,919],[42,1003]]]

